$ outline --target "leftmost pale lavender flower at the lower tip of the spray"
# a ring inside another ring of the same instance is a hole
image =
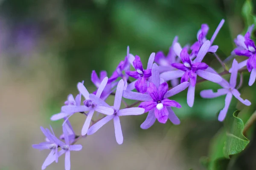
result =
[[[33,144],[32,147],[40,150],[44,150],[44,149],[51,150],[51,152],[49,153],[49,155],[47,156],[47,158],[45,159],[42,165],[42,170],[44,170],[53,161],[58,162],[58,154],[56,153],[58,153],[58,143],[61,141],[55,136],[52,130],[52,127],[51,127],[52,133],[50,132],[49,129],[44,129],[44,127],[40,127],[40,128],[41,128],[41,131],[44,133],[44,136],[46,136],[47,142],[42,142],[40,144]]]

